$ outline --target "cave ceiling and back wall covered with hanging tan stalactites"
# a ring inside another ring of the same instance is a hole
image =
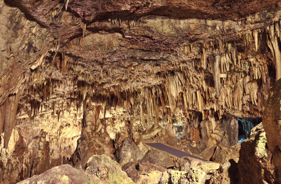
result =
[[[184,122],[181,139],[202,147],[263,116],[281,77],[279,1],[130,2],[0,0],[1,181],[76,164],[89,111],[101,141],[128,122],[172,135]]]

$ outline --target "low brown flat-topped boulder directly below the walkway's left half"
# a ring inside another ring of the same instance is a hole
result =
[[[171,168],[175,165],[170,155],[160,150],[148,150],[139,162],[139,164],[144,163],[155,164],[164,168]]]

